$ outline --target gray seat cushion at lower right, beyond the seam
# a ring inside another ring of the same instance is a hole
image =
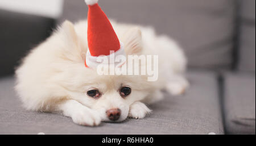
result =
[[[255,74],[228,73],[224,81],[226,132],[255,134]]]

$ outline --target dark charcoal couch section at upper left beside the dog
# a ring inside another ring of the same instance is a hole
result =
[[[30,49],[51,34],[55,20],[0,10],[0,77],[14,73]]]

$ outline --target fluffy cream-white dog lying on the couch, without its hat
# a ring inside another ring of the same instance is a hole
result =
[[[46,41],[32,49],[16,70],[15,89],[28,110],[61,112],[77,124],[96,126],[109,121],[106,110],[121,109],[118,121],[144,118],[150,112],[144,105],[162,98],[161,89],[181,94],[188,86],[183,77],[186,60],[183,51],[167,36],[156,36],[150,27],[112,22],[127,55],[159,55],[159,76],[99,76],[84,65],[87,47],[87,21],[73,25],[65,21]],[[121,86],[131,87],[122,98]],[[93,99],[86,94],[98,89]]]

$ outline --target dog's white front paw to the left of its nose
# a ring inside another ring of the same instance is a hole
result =
[[[98,126],[101,123],[100,115],[97,111],[82,108],[71,116],[73,122],[82,126]]]

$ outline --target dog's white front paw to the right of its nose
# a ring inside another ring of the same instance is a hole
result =
[[[129,117],[142,119],[150,112],[151,110],[144,103],[137,101],[130,106]]]

